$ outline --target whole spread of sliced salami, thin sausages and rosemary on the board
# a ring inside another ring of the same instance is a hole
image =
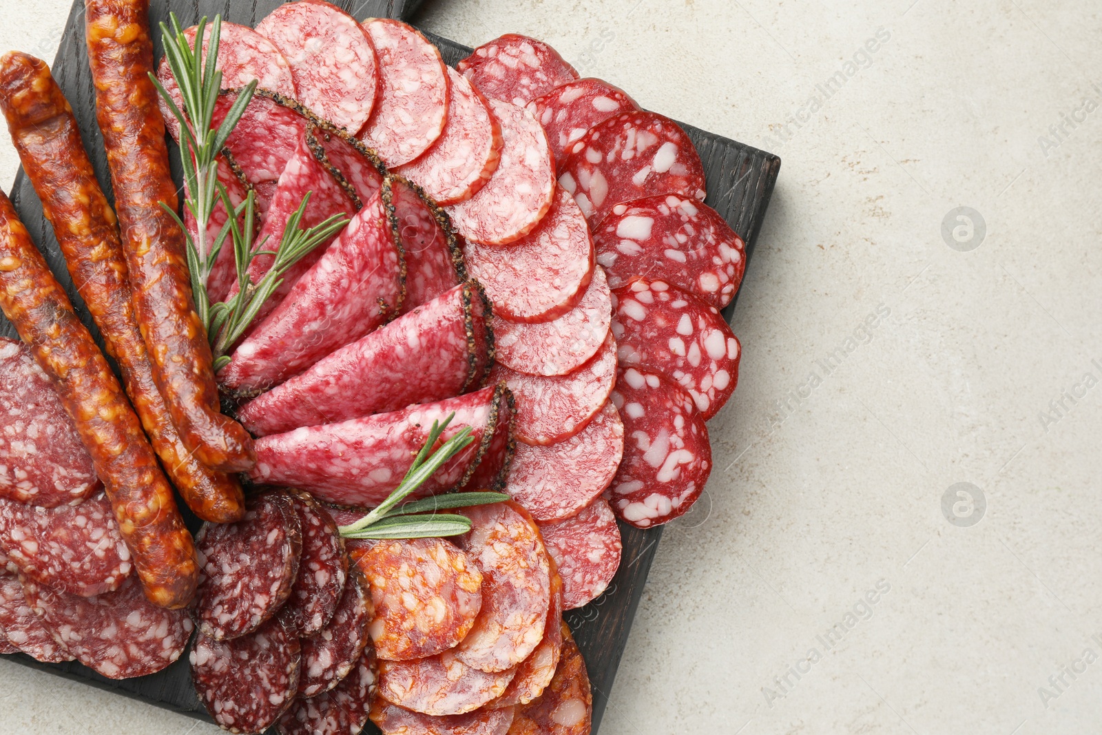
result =
[[[170,20],[86,0],[114,206],[46,65],[0,60],[106,346],[0,195],[0,653],[186,652],[234,733],[588,733],[563,614],[700,496],[737,383],[692,142],[527,36],[451,68],[325,0]]]

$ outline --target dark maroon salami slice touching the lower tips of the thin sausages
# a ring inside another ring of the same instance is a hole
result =
[[[204,636],[252,633],[287,602],[299,573],[302,521],[290,496],[248,500],[236,523],[207,523],[195,537],[203,560],[195,617]]]

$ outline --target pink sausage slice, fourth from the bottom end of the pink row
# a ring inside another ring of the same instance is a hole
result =
[[[496,357],[517,372],[569,375],[597,354],[612,318],[612,292],[604,269],[596,268],[582,300],[559,318],[542,324],[494,320]]]

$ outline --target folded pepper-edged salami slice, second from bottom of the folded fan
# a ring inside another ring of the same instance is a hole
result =
[[[457,285],[261,393],[238,420],[268,436],[457,396],[488,359],[474,339],[484,314],[474,287]]]

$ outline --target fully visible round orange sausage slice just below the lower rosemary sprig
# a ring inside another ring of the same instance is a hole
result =
[[[380,659],[408,661],[453,648],[482,608],[483,575],[444,539],[380,541],[356,554],[371,585],[368,628]]]

